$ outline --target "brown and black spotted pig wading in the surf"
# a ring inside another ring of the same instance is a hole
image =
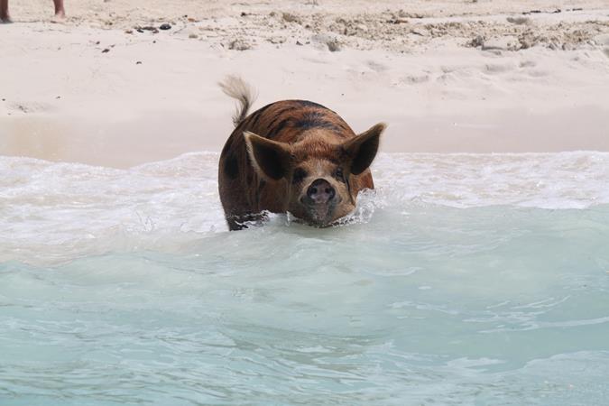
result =
[[[360,190],[374,189],[368,167],[385,125],[356,135],[335,112],[305,100],[275,102],[247,115],[253,97],[245,82],[228,77],[220,86],[240,104],[218,171],[231,230],[261,219],[265,210],[328,226],[355,209]]]

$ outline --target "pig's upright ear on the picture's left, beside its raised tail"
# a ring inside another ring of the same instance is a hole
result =
[[[246,131],[244,133],[247,153],[254,169],[263,178],[281,180],[288,174],[291,166],[291,148],[286,143],[261,137]]]

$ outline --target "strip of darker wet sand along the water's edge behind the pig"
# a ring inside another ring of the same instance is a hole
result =
[[[546,114],[527,114],[517,109],[491,113],[482,117],[405,116],[401,122],[389,121],[392,128],[408,127],[410,134],[400,137],[396,131],[388,131],[381,152],[609,152],[609,137],[604,126],[609,110],[579,107]],[[218,129],[217,136],[210,139],[198,131],[206,123],[204,116],[169,115],[169,122],[155,117],[158,115],[151,113],[115,124],[72,119],[69,125],[52,117],[21,117],[5,127],[8,135],[0,141],[0,155],[126,169],[166,161],[188,152],[219,152],[226,141],[223,134],[228,138],[232,131],[228,121],[224,125],[228,128],[222,129],[224,133]],[[514,117],[520,117],[517,123],[513,123]],[[584,124],[591,129],[578,133],[577,128]],[[188,131],[169,136],[174,126]],[[128,138],[125,134],[129,134]]]

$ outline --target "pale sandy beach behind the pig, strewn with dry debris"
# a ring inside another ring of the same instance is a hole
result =
[[[609,151],[604,1],[13,1],[0,155],[126,168],[219,151],[255,107],[314,100],[383,152]],[[170,29],[161,30],[167,23]]]

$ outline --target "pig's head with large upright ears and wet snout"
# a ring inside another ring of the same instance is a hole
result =
[[[279,143],[246,132],[255,171],[286,185],[282,207],[313,226],[328,226],[355,210],[355,176],[368,169],[385,125],[374,125],[347,140],[309,134],[298,143]]]

